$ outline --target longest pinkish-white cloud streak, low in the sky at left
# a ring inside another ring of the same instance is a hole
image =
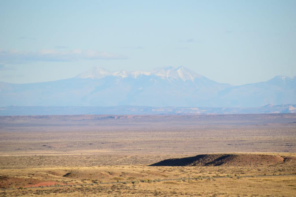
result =
[[[77,61],[81,59],[95,60],[115,60],[126,59],[126,56],[115,53],[99,52],[94,50],[54,50],[43,49],[37,52],[17,51],[17,50],[1,50],[0,61],[3,63],[21,63],[24,61]]]

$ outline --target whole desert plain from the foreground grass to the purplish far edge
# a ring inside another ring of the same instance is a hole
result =
[[[0,116],[0,196],[296,196],[296,114]]]

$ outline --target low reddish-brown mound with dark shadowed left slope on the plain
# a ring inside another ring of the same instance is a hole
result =
[[[296,161],[296,157],[264,154],[200,154],[194,157],[166,159],[150,166],[256,166]]]

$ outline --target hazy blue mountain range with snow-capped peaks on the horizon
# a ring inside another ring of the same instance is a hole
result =
[[[0,106],[261,107],[296,103],[296,77],[241,86],[217,83],[184,67],[111,72],[95,67],[75,78],[0,82]],[[291,105],[292,106],[292,105]]]

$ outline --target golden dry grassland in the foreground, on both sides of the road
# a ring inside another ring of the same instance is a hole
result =
[[[295,166],[280,169],[260,166],[251,169],[250,167],[147,167],[138,165],[2,170],[3,176],[22,179],[22,181],[12,181],[17,184],[9,185],[10,187],[20,188],[21,185],[33,185],[48,181],[61,185],[73,184],[73,186],[5,190],[1,191],[1,196],[37,196],[39,194],[46,196],[294,196],[295,175],[285,177],[255,176],[286,173],[295,173]],[[212,178],[217,174],[232,178]],[[240,178],[234,175],[253,175],[253,177]],[[197,179],[152,181],[180,177]],[[144,182],[140,182],[140,180]],[[126,183],[96,184],[116,181]],[[131,181],[137,182],[131,183]],[[94,185],[78,185],[88,183]]]

